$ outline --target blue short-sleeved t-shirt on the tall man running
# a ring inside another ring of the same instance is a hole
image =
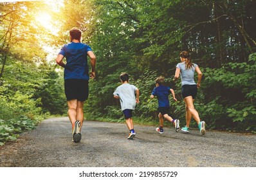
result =
[[[67,63],[64,68],[64,79],[89,80],[89,67],[87,64],[87,52],[92,51],[87,44],[69,42],[60,50],[59,54],[66,57]]]

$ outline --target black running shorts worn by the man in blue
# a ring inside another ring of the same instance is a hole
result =
[[[88,80],[68,79],[64,81],[67,100],[85,101],[89,96]]]

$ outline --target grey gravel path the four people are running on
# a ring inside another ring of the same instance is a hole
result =
[[[190,134],[123,123],[88,122],[80,143],[71,141],[68,118],[41,122],[0,147],[1,167],[256,167],[256,135],[206,131]]]

